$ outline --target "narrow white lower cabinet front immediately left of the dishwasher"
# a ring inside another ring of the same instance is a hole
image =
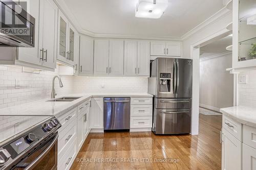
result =
[[[103,130],[103,98],[92,98],[91,104],[90,127]]]

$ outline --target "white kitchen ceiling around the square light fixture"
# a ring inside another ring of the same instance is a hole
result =
[[[96,34],[181,37],[223,8],[223,0],[168,0],[160,19],[135,17],[138,0],[63,0],[82,29]]]

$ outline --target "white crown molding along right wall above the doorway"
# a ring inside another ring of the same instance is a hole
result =
[[[181,36],[181,40],[185,40],[185,39],[189,38],[191,35],[197,33],[198,31],[202,30],[203,28],[210,25],[211,23],[217,22],[218,20],[222,19],[223,17],[225,17],[226,15],[228,15],[230,13],[232,13],[232,10],[229,10],[226,7],[222,8],[221,10],[216,12],[214,15],[210,16],[205,21],[200,23],[194,29],[188,31],[186,34]]]

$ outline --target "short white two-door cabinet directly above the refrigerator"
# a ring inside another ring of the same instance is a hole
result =
[[[180,41],[151,41],[152,56],[181,56]]]

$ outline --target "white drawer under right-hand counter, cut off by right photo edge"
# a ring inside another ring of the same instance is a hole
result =
[[[243,126],[243,141],[250,147],[256,149],[256,128]]]

